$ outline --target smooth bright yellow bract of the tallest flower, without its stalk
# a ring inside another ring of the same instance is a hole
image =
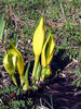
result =
[[[32,40],[35,56],[41,55],[42,46],[44,43],[44,35],[45,35],[45,26],[43,23],[43,17],[41,17],[40,23],[36,28],[33,40]]]

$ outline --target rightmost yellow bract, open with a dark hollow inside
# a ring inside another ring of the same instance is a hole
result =
[[[54,53],[54,39],[53,39],[53,35],[50,33],[43,49],[42,49],[42,55],[41,55],[41,63],[42,66],[48,66],[53,58],[53,53]]]

